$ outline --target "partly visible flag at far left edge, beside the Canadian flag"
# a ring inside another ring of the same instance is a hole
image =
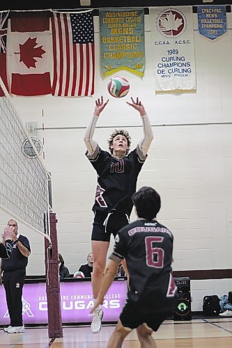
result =
[[[3,80],[6,88],[7,78],[6,78],[6,35],[7,35],[7,24],[8,24],[8,14],[9,11],[0,13],[0,77]],[[0,86],[0,97],[4,94]]]

